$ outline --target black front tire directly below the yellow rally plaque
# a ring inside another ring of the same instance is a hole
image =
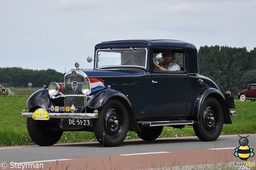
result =
[[[30,110],[34,112],[35,110]],[[63,131],[52,131],[50,130],[53,126],[56,127],[51,121],[37,121],[32,118],[27,119],[27,128],[30,138],[39,146],[52,146],[56,144]]]

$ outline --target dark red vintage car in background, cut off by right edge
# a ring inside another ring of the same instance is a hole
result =
[[[256,84],[248,84],[247,89],[238,90],[237,93],[240,101],[246,101],[246,99],[256,101]]]

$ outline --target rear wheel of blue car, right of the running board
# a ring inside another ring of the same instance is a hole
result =
[[[208,97],[202,104],[199,123],[194,125],[196,136],[202,141],[216,140],[223,127],[223,111],[214,97]]]

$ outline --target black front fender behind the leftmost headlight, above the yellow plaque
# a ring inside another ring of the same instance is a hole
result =
[[[35,91],[27,101],[27,109],[31,109],[33,107],[39,106],[43,109],[47,109],[50,103],[50,95],[48,93],[48,89],[40,89]]]

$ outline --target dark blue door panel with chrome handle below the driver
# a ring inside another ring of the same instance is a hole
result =
[[[179,119],[186,116],[188,77],[183,64],[184,52],[180,53],[180,71],[152,71],[150,117]],[[178,62],[178,58],[174,61]]]

